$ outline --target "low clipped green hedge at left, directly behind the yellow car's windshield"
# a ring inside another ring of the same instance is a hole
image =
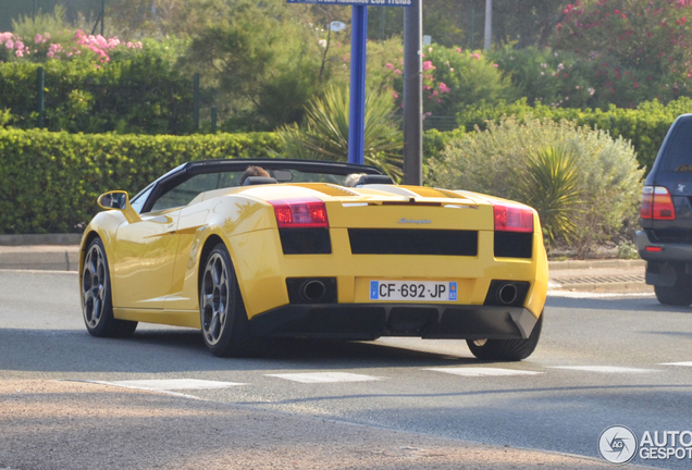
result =
[[[273,134],[138,136],[0,129],[0,234],[78,233],[112,189],[190,160],[270,158]]]

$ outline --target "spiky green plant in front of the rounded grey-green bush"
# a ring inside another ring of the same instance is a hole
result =
[[[573,215],[582,203],[574,156],[565,147],[546,147],[530,154],[520,191],[539,212],[545,236],[569,242],[576,228]]]

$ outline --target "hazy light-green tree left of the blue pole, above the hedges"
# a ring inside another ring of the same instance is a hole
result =
[[[301,121],[330,71],[314,25],[299,18],[300,5],[239,0],[233,8],[223,1],[207,8],[218,13],[203,16],[184,63],[226,103],[233,116],[226,128],[273,131]]]

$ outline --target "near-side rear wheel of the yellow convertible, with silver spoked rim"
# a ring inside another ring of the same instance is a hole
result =
[[[205,344],[220,357],[252,354],[256,344],[228,250],[217,245],[203,263],[199,311]]]

